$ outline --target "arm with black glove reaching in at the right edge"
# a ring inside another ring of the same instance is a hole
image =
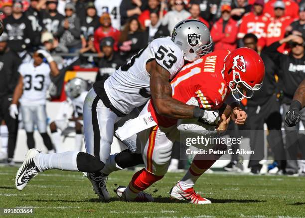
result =
[[[300,111],[305,107],[305,79],[301,82],[298,89],[295,92],[294,99],[290,105],[289,110],[285,116],[286,126],[296,126],[302,115]]]

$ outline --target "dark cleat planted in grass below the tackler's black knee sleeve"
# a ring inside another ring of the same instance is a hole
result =
[[[107,176],[101,172],[95,172],[87,173],[87,177],[93,186],[95,194],[97,194],[103,201],[108,202],[110,200],[110,195],[106,189]]]

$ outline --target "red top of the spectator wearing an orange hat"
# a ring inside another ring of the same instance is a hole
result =
[[[97,50],[97,52],[101,52],[100,42],[105,37],[113,37],[113,39],[115,40],[114,50],[117,51],[120,34],[121,32],[114,27],[110,27],[110,30],[108,32],[104,32],[103,26],[97,28],[94,32],[94,47]]]

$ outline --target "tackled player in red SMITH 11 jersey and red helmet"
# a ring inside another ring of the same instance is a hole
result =
[[[264,74],[264,63],[254,50],[238,48],[231,53],[227,50],[218,50],[181,69],[171,81],[172,97],[187,104],[214,109],[215,112],[223,108],[226,101],[231,105],[233,119],[237,118],[235,123],[243,124],[246,115],[239,108],[237,101],[250,98],[253,91],[260,89]],[[230,92],[232,93],[230,97],[234,98],[228,98]],[[151,128],[146,126],[147,129],[138,133],[146,168],[133,176],[125,190],[122,187],[117,189],[117,194],[126,201],[152,201],[152,197],[143,191],[166,173],[172,145],[177,136],[176,129],[183,133],[196,132],[204,136],[212,136],[218,131],[226,130],[230,114],[222,114],[222,122],[216,127],[202,124],[197,119],[175,120],[160,116],[155,110],[153,101],[148,102],[139,119],[136,118],[125,126],[130,128],[134,125],[132,122],[137,122],[139,125],[138,121],[143,119],[147,126],[152,123]],[[240,119],[241,117],[243,118]],[[195,193],[193,186],[220,156],[215,155],[200,160],[200,155],[196,155],[186,175],[171,189],[170,197],[192,204],[210,204],[209,200]]]

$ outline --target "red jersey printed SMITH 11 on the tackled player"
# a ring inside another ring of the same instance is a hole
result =
[[[217,50],[204,55],[197,61],[185,65],[170,82],[172,97],[183,103],[198,102],[200,108],[219,109],[230,93],[221,73],[228,50]],[[175,125],[177,120],[156,113],[153,101],[149,110],[154,121],[163,127]]]

